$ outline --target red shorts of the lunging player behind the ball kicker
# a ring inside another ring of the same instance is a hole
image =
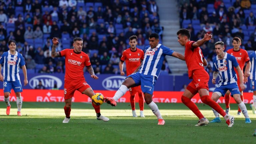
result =
[[[198,90],[205,88],[209,90],[208,82],[209,82],[209,74],[203,70],[198,69],[193,71],[193,80],[188,84],[187,89],[192,93],[196,94]]]

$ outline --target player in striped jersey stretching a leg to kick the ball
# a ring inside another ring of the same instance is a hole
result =
[[[184,56],[159,44],[159,35],[157,33],[149,35],[149,44],[150,46],[145,47],[143,62],[135,70],[136,73],[127,76],[126,80],[115,93],[115,96],[113,98],[105,97],[105,101],[112,106],[116,106],[116,101],[121,98],[130,87],[141,85],[146,104],[156,115],[158,125],[164,125],[165,121],[162,118],[157,105],[152,101],[154,86],[161,72],[165,56],[174,56],[181,60],[184,60]]]

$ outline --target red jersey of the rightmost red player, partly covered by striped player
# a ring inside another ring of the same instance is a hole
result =
[[[241,49],[241,48],[238,51],[235,51],[234,48],[232,48],[232,49],[227,50],[227,53],[235,56],[239,66],[242,70],[242,73],[244,74],[244,72],[243,72],[244,64],[247,63],[248,61],[250,61],[250,58],[249,58],[249,55],[248,55],[247,51],[244,50],[244,49]],[[239,78],[236,69],[235,69],[235,72],[237,74],[237,77]]]

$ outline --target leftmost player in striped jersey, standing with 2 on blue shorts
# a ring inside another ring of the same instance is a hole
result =
[[[4,101],[7,105],[6,114],[10,114],[11,105],[9,95],[11,93],[11,89],[13,89],[17,98],[17,114],[18,116],[22,116],[20,112],[22,106],[22,99],[20,94],[20,92],[22,92],[22,86],[20,83],[19,69],[21,66],[24,74],[24,86],[28,84],[27,70],[23,56],[16,51],[16,41],[10,40],[8,42],[8,46],[10,50],[4,52],[0,58],[0,71],[3,65],[3,75],[0,73],[0,81],[4,82]]]

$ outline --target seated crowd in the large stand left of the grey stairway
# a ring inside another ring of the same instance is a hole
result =
[[[8,41],[15,40],[28,73],[63,73],[64,59],[51,57],[51,39],[58,38],[56,51],[61,51],[72,48],[73,38],[81,37],[82,51],[90,56],[95,73],[117,74],[128,38],[137,35],[138,47],[144,48],[154,32],[163,32],[155,0],[0,2],[0,55],[8,51]],[[168,65],[163,70],[168,71]]]

